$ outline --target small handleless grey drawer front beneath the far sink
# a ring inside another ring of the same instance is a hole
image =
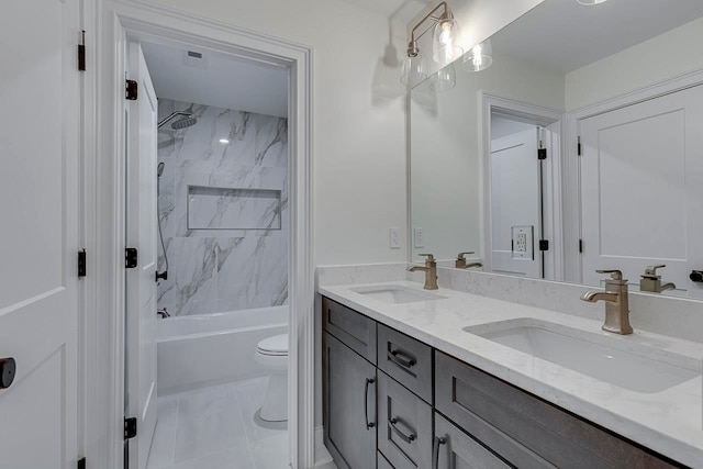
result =
[[[322,326],[376,365],[376,321],[322,297]]]

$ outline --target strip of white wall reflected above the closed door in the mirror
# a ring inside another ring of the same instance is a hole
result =
[[[573,111],[703,68],[703,18],[566,75]]]

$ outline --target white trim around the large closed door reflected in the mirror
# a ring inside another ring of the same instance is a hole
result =
[[[577,210],[563,212],[565,281],[571,283],[582,283],[583,281],[582,255],[579,250],[579,241],[581,239],[581,160],[577,150],[580,121],[700,85],[703,85],[703,69],[656,81],[646,87],[637,88],[567,113],[563,153],[566,156],[563,158],[563,206],[573,206]]]

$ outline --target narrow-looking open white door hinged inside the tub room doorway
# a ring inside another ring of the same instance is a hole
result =
[[[138,252],[126,270],[126,413],[137,418],[130,468],[144,469],[156,427],[156,120],[157,101],[138,43],[129,44],[138,99],[127,109],[126,242]]]

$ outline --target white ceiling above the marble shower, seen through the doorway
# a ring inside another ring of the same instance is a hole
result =
[[[288,70],[198,48],[142,42],[158,98],[288,116]],[[201,54],[201,58],[192,55]]]

